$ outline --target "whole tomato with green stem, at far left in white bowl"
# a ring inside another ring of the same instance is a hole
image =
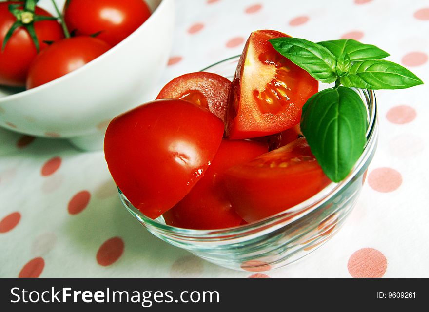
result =
[[[9,4],[22,2],[0,3],[0,48],[3,46],[4,37],[12,24],[15,16],[9,12]],[[52,16],[45,10],[36,7],[37,15]],[[34,22],[34,29],[39,41],[40,50],[48,45],[43,41],[57,41],[64,37],[62,28],[56,20],[42,20]],[[37,55],[36,46],[30,34],[24,27],[15,30],[7,41],[3,51],[0,51],[0,84],[7,86],[25,86],[28,68]]]

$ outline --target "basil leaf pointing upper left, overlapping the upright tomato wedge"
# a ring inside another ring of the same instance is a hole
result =
[[[290,37],[271,39],[270,43],[277,52],[309,72],[314,79],[331,83],[338,78],[335,73],[336,60],[327,48]]]

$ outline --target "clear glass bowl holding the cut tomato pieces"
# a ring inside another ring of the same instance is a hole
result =
[[[203,71],[232,79],[239,56]],[[190,230],[153,220],[135,208],[119,190],[120,198],[138,221],[160,239],[217,265],[245,271],[268,271],[290,264],[328,241],[343,225],[362,190],[378,137],[373,91],[356,89],[367,107],[369,128],[364,152],[343,181],[331,183],[308,200],[264,220],[220,230]]]

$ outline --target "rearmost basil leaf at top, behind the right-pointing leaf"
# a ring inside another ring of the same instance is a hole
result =
[[[322,41],[318,44],[327,48],[338,59],[346,52],[351,61],[367,59],[384,59],[390,56],[389,53],[372,44],[363,44],[354,39],[339,39]]]

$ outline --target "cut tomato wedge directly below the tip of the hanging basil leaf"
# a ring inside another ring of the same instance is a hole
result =
[[[234,166],[225,173],[224,182],[237,214],[254,222],[303,202],[331,180],[302,137]]]

